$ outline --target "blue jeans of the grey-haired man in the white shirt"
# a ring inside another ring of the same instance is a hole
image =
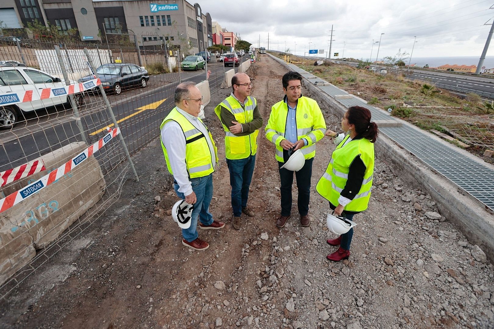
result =
[[[213,216],[209,213],[209,204],[213,197],[213,175],[209,174],[205,177],[192,178],[192,190],[196,193],[197,201],[194,204],[194,210],[192,211],[192,219],[190,227],[187,229],[182,228],[182,235],[185,240],[192,242],[198,238],[197,234],[197,219],[204,225],[211,225],[213,222]],[[185,195],[178,191],[180,186],[177,183],[173,184],[175,193],[181,199],[185,199]]]

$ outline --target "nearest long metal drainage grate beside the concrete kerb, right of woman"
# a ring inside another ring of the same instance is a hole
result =
[[[409,126],[379,130],[494,210],[494,170]]]

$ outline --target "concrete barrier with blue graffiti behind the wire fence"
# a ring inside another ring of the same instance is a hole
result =
[[[71,143],[41,157],[45,171],[2,188],[9,195],[67,162],[87,146]],[[29,263],[35,249],[45,248],[94,206],[106,188],[98,161],[89,157],[57,181],[0,214],[0,284]],[[5,273],[5,274],[4,274]]]

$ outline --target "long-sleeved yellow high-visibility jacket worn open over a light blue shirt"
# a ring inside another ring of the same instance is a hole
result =
[[[287,124],[288,104],[280,101],[273,105],[269,121],[266,125],[266,138],[276,145],[276,160],[283,160],[283,147],[281,141],[285,139]],[[307,145],[301,148],[305,159],[311,159],[316,155],[316,142],[324,137],[326,122],[317,102],[308,97],[300,97],[295,114],[297,124],[297,141],[305,138]]]

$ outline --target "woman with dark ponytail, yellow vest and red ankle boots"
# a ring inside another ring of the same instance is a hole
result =
[[[335,215],[352,220],[369,204],[374,172],[373,143],[378,129],[375,122],[371,122],[371,111],[360,106],[353,106],[345,112],[341,128],[346,136],[331,130],[326,132],[326,136],[336,137],[337,146],[316,189],[329,201]],[[331,261],[348,259],[352,236],[353,228],[336,239],[329,239],[329,245],[340,247],[327,258]]]

